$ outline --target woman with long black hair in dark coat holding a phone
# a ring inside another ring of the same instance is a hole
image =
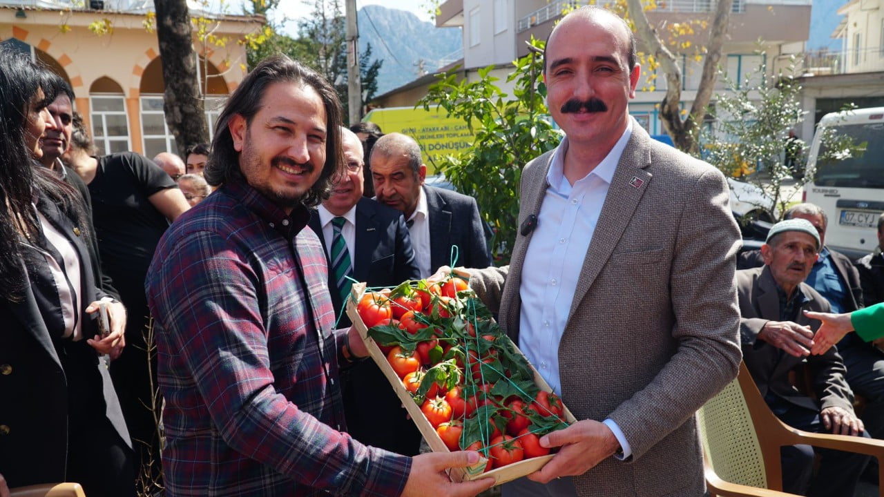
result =
[[[96,287],[79,194],[34,165],[53,126],[47,93],[40,67],[0,48],[0,474],[134,495],[105,356],[122,348],[125,310]]]

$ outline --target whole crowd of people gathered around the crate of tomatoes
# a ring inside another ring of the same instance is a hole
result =
[[[288,57],[248,73],[211,144],[150,160],[98,155],[65,80],[0,49],[0,389],[27,399],[0,403],[0,497],[134,495],[139,476],[170,496],[484,491],[446,474],[475,451],[421,453],[342,312],[353,280],[449,264],[577,419],[507,497],[703,495],[694,413],[741,360],[787,424],[880,438],[880,248],[851,264],[799,204],[738,255],[724,176],[629,116],[640,73],[609,11],[552,30],[564,138],[525,165],[495,267],[475,199],[425,185],[408,135],[343,126],[334,88]],[[884,247],[884,215],[878,233]],[[852,494],[868,463],[782,458],[782,486],[808,495]]]

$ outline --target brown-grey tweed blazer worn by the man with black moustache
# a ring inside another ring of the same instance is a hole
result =
[[[578,419],[613,419],[632,457],[609,458],[575,486],[582,496],[698,496],[694,413],[735,378],[741,359],[740,233],[718,170],[652,140],[636,121],[632,129],[559,346],[565,404]],[[551,158],[522,172],[520,226],[540,211]],[[471,271],[470,286],[516,343],[530,242],[530,233],[517,236],[507,267]]]

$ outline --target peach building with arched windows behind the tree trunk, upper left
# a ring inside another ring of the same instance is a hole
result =
[[[47,65],[67,80],[74,108],[87,122],[99,153],[132,150],[147,157],[177,153],[163,111],[162,60],[153,22],[153,3],[91,0],[0,0],[0,43]],[[245,76],[240,42],[260,29],[263,18],[199,11],[194,25],[208,27],[212,40],[195,34],[199,77],[210,134],[220,105]]]

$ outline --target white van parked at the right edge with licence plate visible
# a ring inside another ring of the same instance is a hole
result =
[[[824,128],[848,134],[865,151],[819,162]],[[878,245],[876,226],[884,212],[884,107],[826,114],[813,136],[807,172],[812,176],[804,185],[804,199],[828,216],[826,245],[853,258],[871,252]]]

